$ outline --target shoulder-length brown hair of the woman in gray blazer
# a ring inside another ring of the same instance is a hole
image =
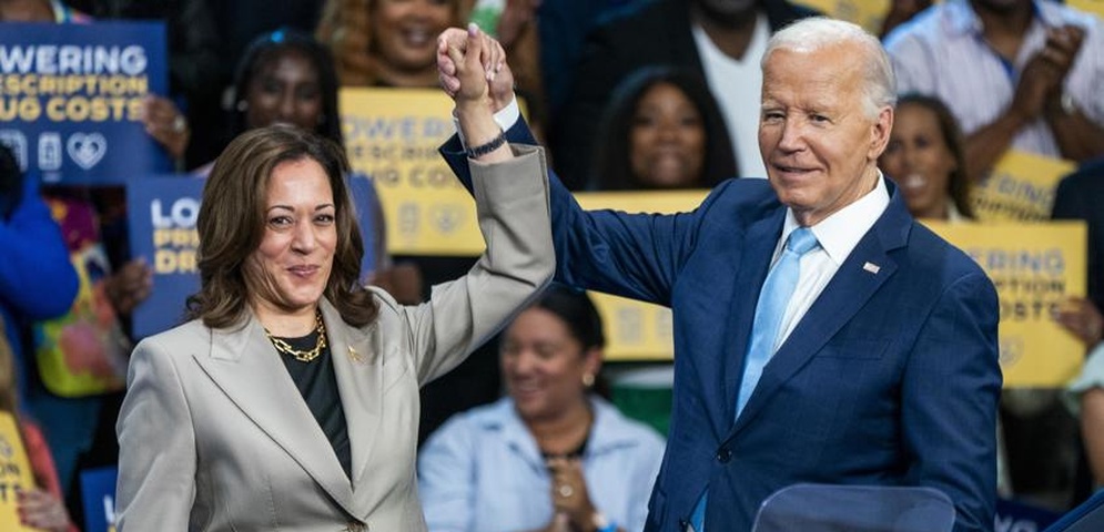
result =
[[[337,247],[324,296],[353,326],[375,319],[378,306],[357,283],[364,244],[353,212],[345,175],[348,161],[341,146],[298,127],[257,127],[234,139],[214,163],[203,187],[196,221],[200,291],[188,298],[188,318],[212,328],[239,325],[250,303],[250,257],[265,232],[269,183],[282,163],[313,160],[322,166],[334,196]]]

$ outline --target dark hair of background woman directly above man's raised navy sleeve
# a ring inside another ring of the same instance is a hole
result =
[[[629,137],[640,100],[649,89],[659,84],[675,85],[686,95],[701,115],[706,130],[706,154],[701,176],[696,188],[712,188],[721,181],[736,176],[736,156],[732,142],[725,126],[717,100],[706,81],[698,74],[672,66],[646,66],[626,78],[610,99],[598,125],[598,139],[604,139],[595,152],[591,185],[599,191],[647,188],[632,175],[629,162]]]

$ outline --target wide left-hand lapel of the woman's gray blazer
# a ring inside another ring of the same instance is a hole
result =
[[[252,315],[241,329],[214,330],[209,356],[194,356],[234,406],[354,514],[352,484],[278,357]]]

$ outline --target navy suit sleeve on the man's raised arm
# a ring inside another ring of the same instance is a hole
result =
[[[509,142],[534,144],[524,121],[506,132]],[[472,190],[472,176],[459,140],[440,149],[460,182]],[[693,246],[697,214],[626,214],[584,211],[549,171],[556,279],[632,299],[670,305],[679,265]],[[701,208],[699,207],[699,211]]]

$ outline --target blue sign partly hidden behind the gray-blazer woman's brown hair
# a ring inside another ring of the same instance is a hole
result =
[[[182,323],[188,296],[200,289],[195,223],[205,180],[194,176],[150,176],[126,184],[131,254],[153,268],[150,297],[134,308],[135,338],[168,330]],[[375,188],[364,176],[350,178],[361,226],[364,257],[361,278],[375,265]]]

